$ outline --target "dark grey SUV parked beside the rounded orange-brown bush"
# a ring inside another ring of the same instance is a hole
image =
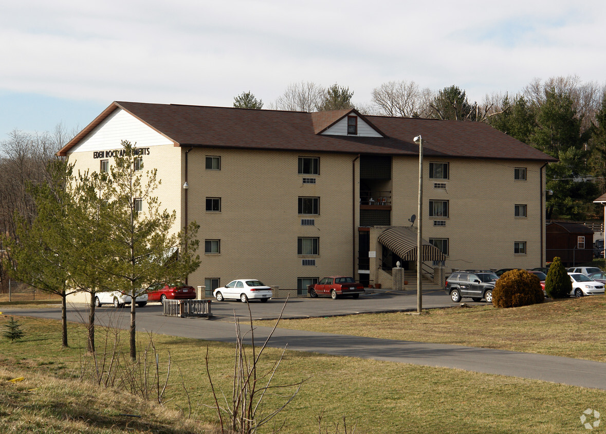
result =
[[[494,284],[498,279],[499,276],[493,272],[454,272],[446,279],[445,291],[455,303],[465,297],[473,301],[481,301],[484,298],[491,303]]]

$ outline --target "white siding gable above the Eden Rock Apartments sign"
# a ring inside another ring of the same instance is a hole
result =
[[[118,108],[73,147],[70,153],[120,149],[122,140],[133,144],[136,142],[138,148],[173,144],[135,116]]]

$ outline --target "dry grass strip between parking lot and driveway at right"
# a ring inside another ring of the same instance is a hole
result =
[[[328,301],[330,302],[330,301]],[[421,315],[379,313],[283,319],[284,329],[403,341],[437,342],[606,361],[606,296],[496,309],[492,305],[429,309]],[[259,325],[271,321],[256,321]]]

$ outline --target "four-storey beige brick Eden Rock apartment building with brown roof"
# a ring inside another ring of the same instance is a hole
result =
[[[59,155],[107,170],[122,139],[136,142],[174,230],[201,225],[190,284],[244,276],[304,293],[327,275],[372,284],[398,260],[416,269],[417,135],[425,268],[542,265],[554,159],[482,122],[113,102]]]

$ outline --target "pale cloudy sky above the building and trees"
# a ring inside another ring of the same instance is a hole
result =
[[[606,82],[606,2],[19,0],[0,4],[0,140],[82,129],[112,101],[267,106],[293,82],[458,85],[471,102],[534,78]]]

